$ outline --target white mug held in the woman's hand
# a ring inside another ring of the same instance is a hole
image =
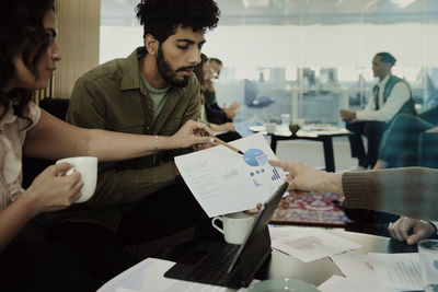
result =
[[[93,156],[78,156],[58,160],[56,164],[69,163],[73,167],[67,172],[66,175],[72,174],[77,171],[81,174],[83,187],[81,188],[81,197],[76,202],[88,201],[93,196],[97,183],[97,157]]]

